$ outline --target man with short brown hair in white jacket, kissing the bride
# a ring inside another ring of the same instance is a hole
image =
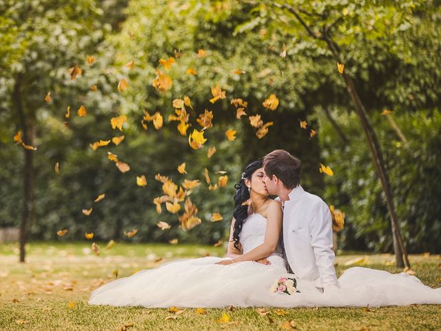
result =
[[[338,287],[332,250],[332,219],[327,204],[300,186],[301,163],[285,150],[263,159],[265,185],[283,205],[285,259],[300,279],[318,288]]]

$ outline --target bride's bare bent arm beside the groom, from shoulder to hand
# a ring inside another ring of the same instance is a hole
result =
[[[267,229],[265,241],[247,254],[234,257],[232,262],[257,261],[269,257],[276,250],[280,232],[282,231],[283,213],[280,202],[272,201],[267,208]]]

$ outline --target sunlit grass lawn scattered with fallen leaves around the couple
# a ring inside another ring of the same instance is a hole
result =
[[[0,244],[0,330],[441,330],[441,305],[388,308],[185,309],[114,308],[88,305],[91,290],[137,270],[165,261],[205,254],[222,256],[224,248],[201,245],[123,244],[97,257],[90,243],[30,243],[27,263],[18,263],[16,244]],[[400,272],[389,254],[339,255],[336,268],[356,265]],[[158,261],[162,259],[161,261]],[[441,287],[441,256],[412,255],[413,270],[427,285]],[[220,322],[226,312],[230,321]],[[170,317],[170,319],[167,319]],[[291,321],[291,325],[289,325]],[[133,323],[130,326],[130,323]]]

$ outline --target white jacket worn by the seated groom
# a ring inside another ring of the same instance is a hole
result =
[[[294,274],[319,288],[338,286],[332,237],[329,207],[298,185],[283,210],[283,245]]]

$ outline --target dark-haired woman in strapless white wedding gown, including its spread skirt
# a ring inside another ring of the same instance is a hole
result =
[[[262,161],[250,163],[235,185],[234,219],[227,257],[178,260],[142,270],[94,290],[89,303],[149,308],[441,303],[441,288],[432,289],[404,273],[350,268],[338,279],[340,288],[325,292],[318,290],[311,281],[289,274],[279,240],[282,209],[278,201],[269,199],[262,166]],[[274,292],[274,283],[280,277],[295,279],[298,292],[291,295]]]

